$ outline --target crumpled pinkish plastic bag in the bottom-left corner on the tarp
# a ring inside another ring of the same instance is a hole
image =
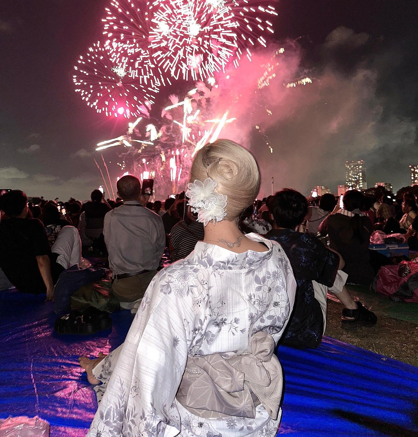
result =
[[[0,437],[49,437],[49,423],[38,416],[8,417],[0,421]]]

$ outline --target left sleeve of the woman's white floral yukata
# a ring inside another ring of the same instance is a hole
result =
[[[184,373],[195,312],[175,265],[149,285],[123,343],[89,437],[173,437],[180,416],[175,395]],[[167,272],[169,271],[169,272]]]

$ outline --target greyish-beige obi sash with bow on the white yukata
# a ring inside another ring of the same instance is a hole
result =
[[[251,337],[251,353],[188,356],[177,400],[196,416],[255,418],[262,404],[272,419],[280,408],[283,378],[273,354],[273,337],[260,331]]]

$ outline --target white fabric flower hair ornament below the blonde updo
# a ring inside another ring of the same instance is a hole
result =
[[[218,185],[216,179],[206,178],[204,182],[195,180],[193,184],[187,184],[186,196],[190,199],[192,212],[197,213],[197,221],[206,226],[209,222],[215,225],[226,216],[226,199],[228,196],[215,191]]]

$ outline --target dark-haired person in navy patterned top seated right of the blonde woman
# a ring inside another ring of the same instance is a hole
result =
[[[344,260],[319,239],[296,232],[308,212],[308,202],[298,191],[285,188],[272,202],[274,229],[265,236],[281,244],[295,274],[298,291],[291,321],[282,344],[315,348],[321,344],[326,327],[327,291],[344,305],[343,326],[372,326],[376,315],[354,301],[345,283]]]

